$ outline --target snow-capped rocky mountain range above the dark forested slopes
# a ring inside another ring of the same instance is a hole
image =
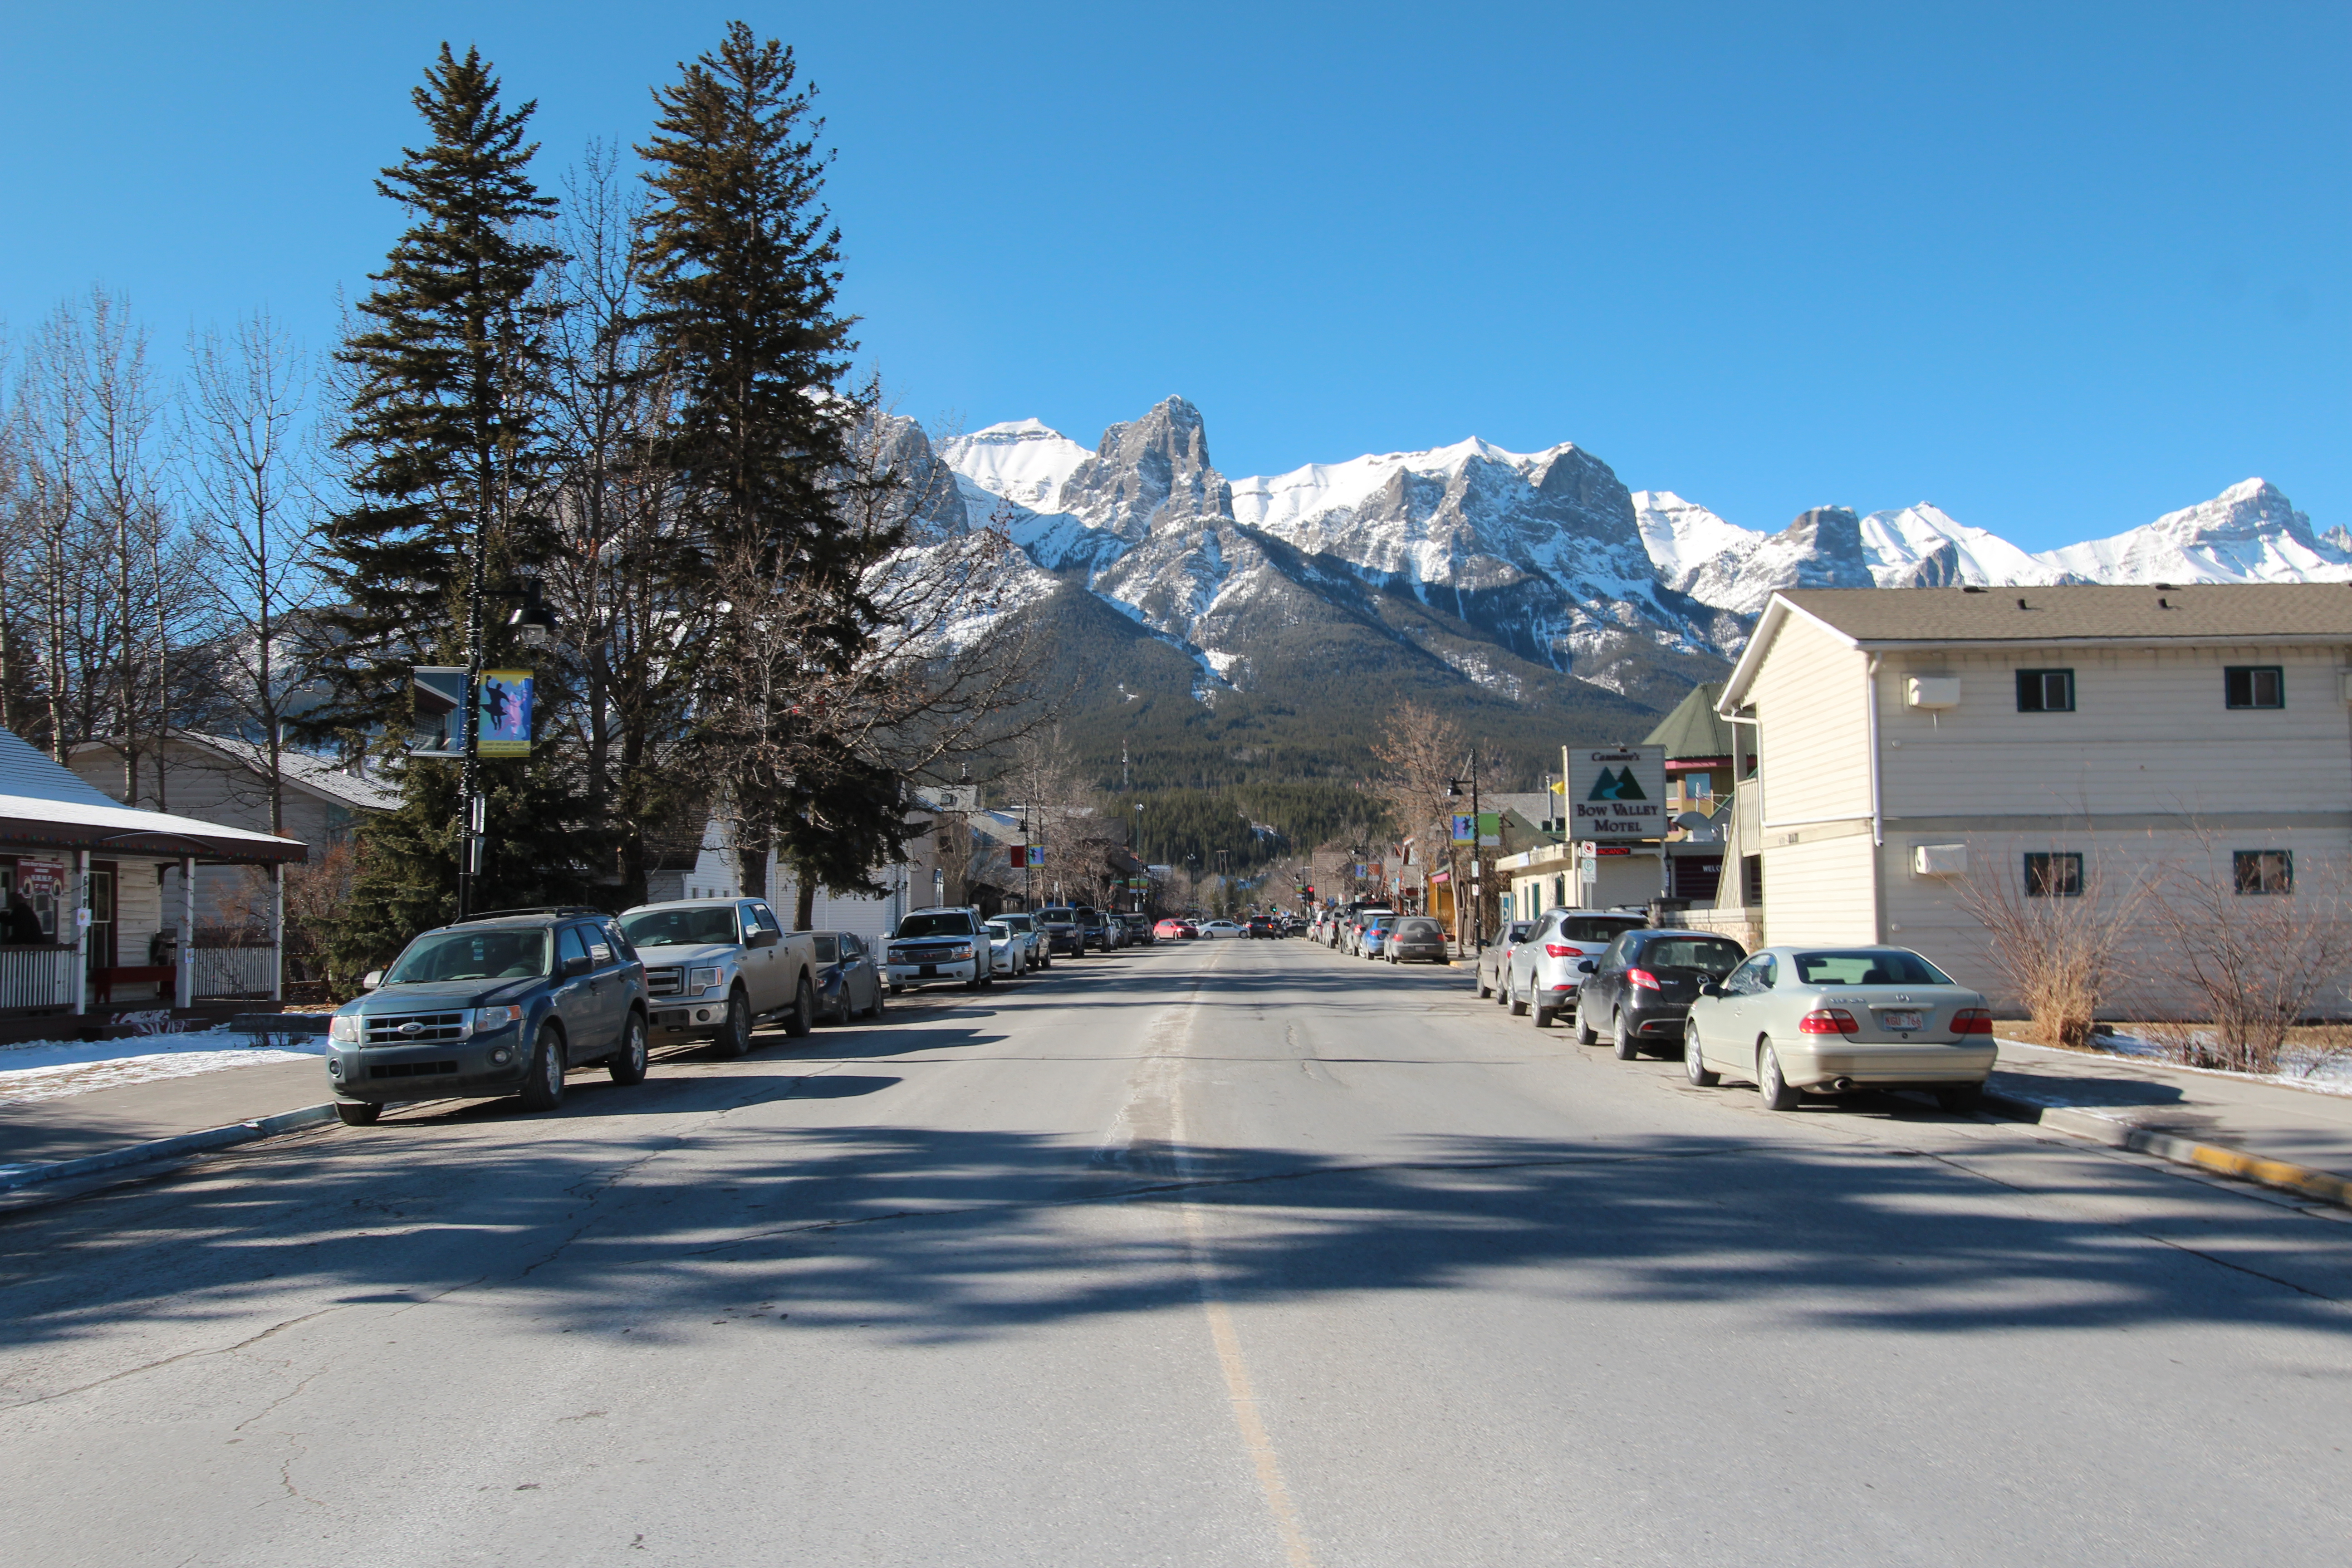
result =
[[[1115,611],[1089,625],[1127,625],[1129,642],[1181,658],[1171,668],[1209,705],[1371,665],[1519,705],[1670,703],[1738,654],[1776,588],[1797,585],[2352,581],[2352,536],[2314,534],[2263,480],[2034,555],[1929,503],[1743,529],[1672,491],[1630,491],[1569,442],[1472,437],[1225,480],[1183,397],[1110,425],[1091,451],[1023,418],[936,458],[969,524],[1004,527],[1040,569],[1033,604]],[[1110,684],[1134,701],[1127,677]]]

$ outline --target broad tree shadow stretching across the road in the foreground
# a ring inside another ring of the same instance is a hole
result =
[[[2136,1166],[2086,1173],[2084,1194],[2143,1182],[2180,1206],[2178,1234],[1879,1145],[1428,1138],[1404,1159],[1350,1164],[1308,1147],[1103,1150],[734,1114],[833,1098],[842,1112],[811,1114],[873,1117],[898,1081],[826,1086],[779,1067],[680,1081],[668,1110],[713,1112],[684,1126],[581,1114],[515,1143],[386,1124],[21,1215],[0,1225],[0,1345],[139,1316],[249,1321],[289,1286],[339,1305],[463,1293],[548,1333],[661,1335],[771,1302],[795,1328],[1002,1335],[1190,1298],[1185,1204],[1237,1302],[1512,1279],[1562,1298],[1738,1302],[1846,1333],[2347,1331],[2338,1302],[2279,1284],[2343,1279],[2291,1232],[2312,1220]]]

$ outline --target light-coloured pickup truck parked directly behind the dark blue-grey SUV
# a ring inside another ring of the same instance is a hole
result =
[[[786,931],[764,898],[642,903],[621,936],[644,964],[654,1044],[715,1039],[743,1056],[760,1018],[783,1018],[786,1034],[816,1023],[816,938]]]

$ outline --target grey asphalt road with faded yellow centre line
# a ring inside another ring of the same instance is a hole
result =
[[[913,1001],[913,999],[908,999]],[[2345,1561],[2352,1225],[1155,947],[0,1222],[9,1563]]]

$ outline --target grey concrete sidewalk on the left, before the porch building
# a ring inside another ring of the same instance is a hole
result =
[[[113,1154],[136,1143],[275,1117],[332,1098],[325,1063],[308,1056],[0,1105],[0,1168]]]

